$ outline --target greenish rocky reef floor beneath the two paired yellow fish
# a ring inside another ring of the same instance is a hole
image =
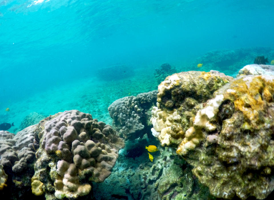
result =
[[[126,141],[126,147],[133,145],[132,140]],[[152,144],[154,138],[136,141],[142,144]],[[207,187],[198,182],[192,174],[191,166],[174,148],[158,146],[151,163],[147,153],[141,157],[126,159],[119,157],[111,175],[103,183],[94,183],[96,199],[215,199]],[[121,150],[125,151],[125,149]]]

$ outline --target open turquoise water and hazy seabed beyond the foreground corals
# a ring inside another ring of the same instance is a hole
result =
[[[162,63],[273,48],[273,7],[270,0],[0,0],[0,123],[18,128],[30,112],[70,109],[111,123],[108,105],[156,89]],[[117,64],[129,66],[128,78],[100,70]]]

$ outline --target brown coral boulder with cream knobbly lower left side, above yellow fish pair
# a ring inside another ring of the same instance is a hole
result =
[[[177,146],[192,126],[192,118],[214,91],[233,80],[217,71],[189,71],[168,76],[158,86],[157,106],[152,110],[152,134],[162,145]]]

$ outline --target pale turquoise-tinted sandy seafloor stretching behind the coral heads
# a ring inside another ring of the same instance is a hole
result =
[[[22,120],[31,112],[49,116],[65,110],[80,110],[92,114],[93,118],[112,124],[108,106],[118,98],[137,95],[157,89],[153,71],[144,68],[135,69],[134,76],[112,81],[100,81],[92,76],[75,77],[66,84],[55,86],[54,82],[47,83],[47,90],[37,91],[36,94],[18,101],[9,100],[0,104],[0,123],[12,123],[9,132],[16,132]],[[10,111],[5,111],[6,108]]]

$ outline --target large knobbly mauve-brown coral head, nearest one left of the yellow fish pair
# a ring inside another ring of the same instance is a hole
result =
[[[40,147],[31,185],[35,195],[46,199],[90,198],[92,181],[110,175],[124,147],[110,125],[78,110],[47,117],[37,130],[34,143]]]

